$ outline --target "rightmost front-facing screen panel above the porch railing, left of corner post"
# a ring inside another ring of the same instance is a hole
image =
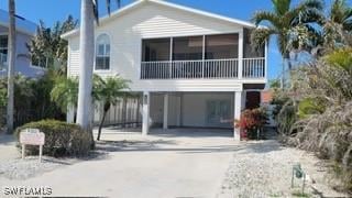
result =
[[[239,34],[206,36],[206,59],[229,59],[239,57]]]

